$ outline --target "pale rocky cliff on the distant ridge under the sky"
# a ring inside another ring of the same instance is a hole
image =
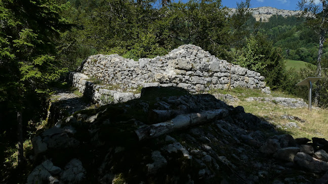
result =
[[[253,17],[256,21],[268,22],[269,18],[273,15],[280,15],[282,17],[289,16],[299,16],[301,11],[292,11],[292,10],[279,10],[272,7],[258,7],[250,9]],[[230,9],[229,15],[232,15],[236,12],[236,9]]]

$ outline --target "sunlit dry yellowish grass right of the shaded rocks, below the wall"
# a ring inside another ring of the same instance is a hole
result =
[[[234,91],[225,91],[234,97],[238,97],[240,101],[231,103],[233,106],[243,106],[245,112],[252,113],[258,117],[269,121],[275,126],[281,126],[280,130],[291,134],[294,138],[312,137],[324,138],[328,140],[328,109],[314,108],[309,111],[307,108],[290,108],[274,103],[265,103],[261,101],[245,101],[248,97],[289,97],[294,96],[285,94],[283,92],[272,92],[270,95],[264,94],[259,90],[237,89]],[[283,115],[293,115],[305,120],[301,122],[298,120],[291,120],[282,118]],[[296,122],[300,128],[286,128],[285,124],[288,122]],[[279,129],[279,128],[278,128]]]

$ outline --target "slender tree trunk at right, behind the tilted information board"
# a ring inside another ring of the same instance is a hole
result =
[[[323,50],[323,42],[325,37],[324,29],[320,30],[320,40],[319,40],[319,51],[318,51],[318,58],[317,58],[317,69],[316,69],[316,77],[321,77],[321,57],[322,57],[322,50]],[[318,106],[320,102],[320,84],[319,81],[316,83],[316,89],[314,94],[314,105]]]

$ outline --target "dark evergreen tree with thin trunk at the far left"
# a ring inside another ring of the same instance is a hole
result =
[[[66,71],[54,59],[60,32],[68,28],[61,8],[55,1],[0,0],[0,105],[2,113],[17,112],[20,165],[23,114],[30,116],[24,112],[33,112],[49,84]]]

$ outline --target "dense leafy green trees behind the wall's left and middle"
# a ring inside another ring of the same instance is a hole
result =
[[[155,57],[181,44],[196,44],[218,56],[227,55],[229,28],[220,1],[168,1],[160,9],[153,3],[71,1],[72,6],[61,11],[74,25],[62,34],[63,65],[75,69],[78,62],[95,53],[118,53],[136,60]]]

